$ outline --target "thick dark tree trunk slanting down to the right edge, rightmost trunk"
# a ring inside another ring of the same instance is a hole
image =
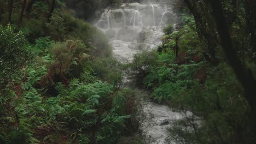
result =
[[[254,133],[253,143],[256,143],[256,81],[254,80],[251,69],[248,69],[236,55],[220,1],[221,0],[210,0],[213,16],[219,33],[220,44],[230,66],[235,71],[238,81],[240,81],[242,87],[245,89],[245,98],[247,99],[252,111],[252,132]]]

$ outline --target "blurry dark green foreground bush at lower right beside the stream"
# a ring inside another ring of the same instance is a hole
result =
[[[246,124],[249,107],[241,97],[243,90],[233,79],[232,70],[222,63],[218,68],[210,70],[210,75],[214,77],[206,81],[205,88],[194,82],[191,88],[182,89],[178,92],[179,96],[174,98],[175,103],[182,104],[184,109],[200,116],[202,123],[196,124],[198,118],[189,116],[187,121],[176,123],[175,129],[170,130],[170,139],[175,140],[178,136],[175,141],[187,140],[185,143],[224,143],[230,141],[228,137],[232,135],[249,136],[249,125]],[[196,133],[189,133],[184,127],[194,127],[193,131]],[[231,141],[239,141],[238,139],[232,137]]]

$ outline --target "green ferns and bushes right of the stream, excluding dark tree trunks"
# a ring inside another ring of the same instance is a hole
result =
[[[224,61],[214,67],[203,62],[198,53],[205,51],[205,41],[199,43],[194,19],[183,15],[182,22],[177,32],[162,37],[157,63],[149,65],[143,80],[152,99],[185,114],[172,123],[166,143],[251,143],[251,110],[234,71]],[[221,52],[216,55],[224,59]]]

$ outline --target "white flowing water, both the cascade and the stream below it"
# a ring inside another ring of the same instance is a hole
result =
[[[114,56],[127,63],[138,52],[156,49],[162,42],[162,28],[175,22],[176,15],[167,1],[158,0],[143,4],[125,3],[118,9],[106,10],[96,27],[110,39]],[[129,76],[124,76],[124,79],[129,80]],[[147,143],[164,143],[172,121],[184,115],[145,99],[141,105],[146,116],[141,122],[141,130]]]

